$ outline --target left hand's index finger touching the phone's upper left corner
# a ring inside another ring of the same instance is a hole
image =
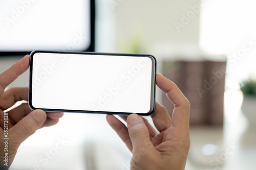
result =
[[[15,79],[22,75],[29,67],[29,55],[17,61],[12,66],[7,68],[0,74],[0,98],[2,97],[5,88]]]

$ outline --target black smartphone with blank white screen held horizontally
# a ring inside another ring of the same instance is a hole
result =
[[[32,110],[151,115],[156,58],[145,54],[33,51]]]

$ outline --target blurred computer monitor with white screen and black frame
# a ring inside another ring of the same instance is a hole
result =
[[[94,51],[94,0],[0,1],[0,55]]]

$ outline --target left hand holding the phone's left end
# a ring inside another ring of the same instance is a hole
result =
[[[4,110],[12,107],[17,101],[28,101],[28,88],[15,87],[5,91],[7,85],[23,74],[29,67],[29,55],[17,61],[0,74],[0,169],[8,169],[11,165],[19,145],[32,135],[37,129],[52,126],[58,123],[63,113],[47,113],[42,110],[31,111],[28,104],[24,103],[10,111]],[[5,121],[8,115],[8,121]],[[6,135],[8,125],[8,136]],[[6,150],[8,139],[8,151]],[[8,154],[8,159],[4,158]],[[7,161],[8,160],[8,163]],[[7,163],[6,165],[4,165]]]

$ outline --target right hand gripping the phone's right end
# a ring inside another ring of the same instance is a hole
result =
[[[165,107],[156,103],[151,117],[159,132],[137,114],[120,116],[127,127],[113,115],[106,120],[133,153],[131,169],[184,169],[190,146],[190,104],[172,81],[157,74],[156,83],[175,106],[170,118]]]

